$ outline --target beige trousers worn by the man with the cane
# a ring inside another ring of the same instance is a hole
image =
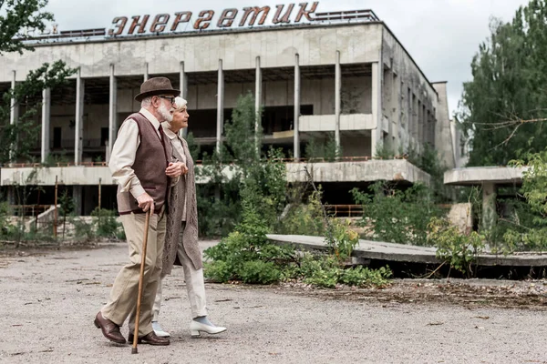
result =
[[[126,233],[129,248],[129,264],[121,268],[114,285],[110,290],[110,298],[101,309],[103,317],[122,326],[129,317],[129,332],[135,328],[137,297],[139,294],[140,257],[142,239],[144,238],[145,214],[129,214],[121,216],[121,223]],[[160,214],[150,217],[150,228],[146,249],[142,299],[140,302],[139,336],[152,332],[151,308],[156,297],[160,282],[161,258],[165,242],[165,223],[167,216],[162,210]]]

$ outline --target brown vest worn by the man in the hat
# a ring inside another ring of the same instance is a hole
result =
[[[161,207],[167,203],[169,191],[169,177],[165,175],[165,168],[168,167],[172,147],[167,136],[160,126],[160,136],[150,121],[140,113],[128,116],[124,123],[133,119],[139,126],[140,145],[137,148],[133,170],[139,178],[140,185],[154,199],[154,211],[160,212]],[[131,193],[120,192],[118,187],[118,211],[119,215],[143,214],[142,208],[137,203],[137,198]]]

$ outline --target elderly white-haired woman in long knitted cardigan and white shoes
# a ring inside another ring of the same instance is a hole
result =
[[[174,264],[182,266],[191,307],[191,337],[197,338],[200,336],[200,332],[218,334],[225,331],[226,328],[217,327],[207,319],[203,264],[200,246],[198,245],[198,210],[194,165],[186,140],[178,136],[179,131],[188,126],[189,115],[186,100],[176,97],[174,104],[175,111],[172,121],[162,123],[161,126],[170,138],[173,147],[173,163],[183,164],[185,174],[170,190],[161,278],[163,280],[165,276],[170,274]],[[158,322],[160,305],[161,282],[152,308],[152,329],[159,337],[167,338],[170,334],[161,329]]]

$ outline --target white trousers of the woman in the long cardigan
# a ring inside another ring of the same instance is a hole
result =
[[[193,267],[191,259],[188,258],[182,245],[182,233],[186,223],[182,222],[181,235],[179,236],[179,248],[177,249],[177,255],[182,264],[182,270],[184,271],[184,280],[186,281],[186,290],[188,292],[188,300],[190,301],[191,318],[195,319],[200,316],[207,316],[207,308],[205,307],[205,282],[203,280],[203,269],[196,269]],[[154,301],[154,307],[152,308],[152,321],[157,321],[160,317],[161,308],[161,284],[163,277],[160,279],[158,285],[158,291],[156,293],[156,300]]]

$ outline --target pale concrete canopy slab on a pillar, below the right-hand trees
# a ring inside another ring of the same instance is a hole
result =
[[[527,167],[466,167],[451,169],[444,174],[449,186],[521,185]]]

